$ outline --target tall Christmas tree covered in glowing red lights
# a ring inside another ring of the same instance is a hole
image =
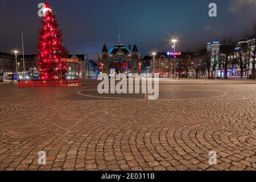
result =
[[[55,16],[47,3],[42,18],[42,29],[39,30],[38,59],[40,80],[60,80],[67,72],[67,65],[60,58],[66,57],[68,51],[61,45],[62,34]]]

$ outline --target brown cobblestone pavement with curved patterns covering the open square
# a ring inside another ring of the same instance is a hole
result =
[[[0,84],[0,170],[255,171],[256,82],[160,83],[156,101]]]

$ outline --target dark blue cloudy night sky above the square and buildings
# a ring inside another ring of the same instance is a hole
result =
[[[43,1],[0,2],[0,52],[21,50],[24,32],[25,53],[36,51],[40,28],[38,3]],[[142,55],[167,51],[168,40],[176,36],[180,51],[203,47],[222,37],[242,38],[242,32],[256,21],[255,0],[48,0],[63,28],[63,44],[72,54],[88,53],[97,59],[106,44],[137,44]],[[208,16],[210,2],[217,4],[217,18]]]

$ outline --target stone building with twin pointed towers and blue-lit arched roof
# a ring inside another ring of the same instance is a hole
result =
[[[142,58],[136,45],[126,47],[123,43],[117,43],[108,49],[103,46],[102,52],[98,55],[98,71],[110,74],[110,69],[116,73],[141,73]]]

